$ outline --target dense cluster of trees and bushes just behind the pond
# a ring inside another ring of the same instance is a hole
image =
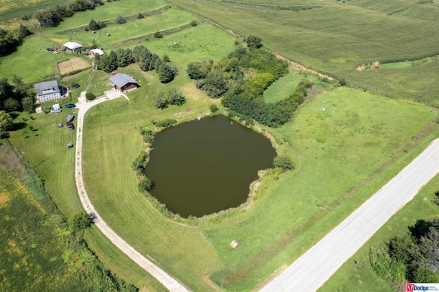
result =
[[[302,80],[294,93],[276,104],[263,100],[264,91],[273,82],[288,73],[288,63],[262,49],[259,36],[246,39],[247,48],[238,48],[218,62],[192,62],[187,67],[189,78],[209,97],[222,98],[229,114],[247,124],[258,121],[269,127],[279,127],[289,121],[292,113],[302,104],[312,83]],[[256,71],[244,77],[244,71]]]

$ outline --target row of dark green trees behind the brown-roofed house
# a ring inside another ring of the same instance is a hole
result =
[[[142,71],[155,70],[158,73],[158,79],[162,83],[169,83],[176,76],[176,69],[167,62],[169,58],[163,58],[164,60],[162,60],[156,53],[149,51],[143,45],[134,47],[134,49],[117,49],[104,56],[96,55],[95,59],[97,69],[107,73],[115,71],[118,67],[137,63]]]

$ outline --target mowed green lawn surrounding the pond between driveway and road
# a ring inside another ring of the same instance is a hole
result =
[[[150,83],[147,92],[152,93],[156,76],[149,74],[145,80]],[[162,88],[167,86],[172,84]],[[151,119],[172,118],[180,110],[157,110],[141,89],[132,93],[131,101],[99,104],[87,114],[84,175],[88,195],[99,214],[128,243],[152,256],[191,289],[202,291],[213,289],[203,278],[215,271],[217,284],[225,281],[225,289],[246,290],[291,263],[425,147],[425,141],[416,147],[410,142],[436,117],[425,106],[347,88],[320,95],[292,123],[270,130],[275,137],[284,137],[278,142],[294,156],[298,170],[281,175],[278,181],[264,178],[253,208],[223,221],[213,220],[220,223],[205,219],[200,227],[189,228],[152,209],[137,192],[130,169],[143,147],[139,127],[150,128]],[[209,112],[206,97],[188,99],[184,108],[194,112],[188,118],[194,119],[195,112]],[[325,116],[322,108],[328,108]],[[379,180],[368,185],[371,173],[393,156],[405,160],[394,169],[380,169]],[[346,196],[358,184],[365,184],[365,191]],[[240,243],[239,252],[230,249],[233,239]]]

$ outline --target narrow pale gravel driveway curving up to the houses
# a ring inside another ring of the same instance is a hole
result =
[[[95,208],[88,199],[87,192],[84,188],[84,180],[82,179],[82,134],[84,132],[84,117],[90,108],[96,104],[100,104],[108,99],[117,98],[116,95],[108,95],[109,97],[102,97],[95,99],[91,102],[86,102],[85,92],[81,93],[78,104],[76,104],[78,112],[76,117],[76,155],[75,155],[75,179],[76,187],[78,188],[78,194],[80,195],[82,206],[88,214],[93,213],[95,215],[95,225],[110,241],[119,248],[124,254],[129,256],[134,260],[137,265],[145,269],[154,278],[161,282],[169,291],[172,292],[186,292],[188,291],[182,284],[177,280],[169,276],[165,271],[154,265],[150,260],[147,260],[145,256],[142,256],[137,250],[126,243],[119,235],[116,234],[108,225],[102,220],[102,218],[97,214]],[[120,95],[119,95],[120,96]]]

